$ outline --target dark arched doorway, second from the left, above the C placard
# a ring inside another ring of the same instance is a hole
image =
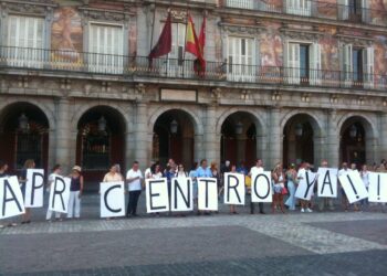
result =
[[[96,106],[79,120],[76,163],[83,168],[85,181],[103,180],[113,163],[125,174],[125,119],[114,108]]]

